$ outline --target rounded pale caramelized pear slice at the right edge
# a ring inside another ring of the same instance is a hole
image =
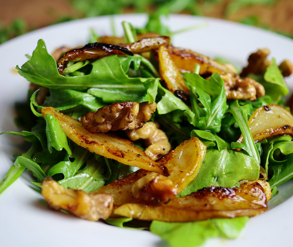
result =
[[[293,117],[280,105],[269,104],[256,109],[248,119],[248,125],[254,142],[276,135],[293,136]],[[242,134],[237,142],[243,142]]]

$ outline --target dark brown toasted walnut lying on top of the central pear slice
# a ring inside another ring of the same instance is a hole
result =
[[[91,133],[107,131],[134,130],[151,119],[156,103],[120,102],[99,108],[82,117],[81,123]]]

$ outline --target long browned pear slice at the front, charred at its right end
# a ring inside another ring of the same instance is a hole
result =
[[[240,187],[208,187],[167,204],[151,206],[128,203],[114,209],[114,214],[141,220],[188,222],[212,218],[255,216],[268,209],[265,181],[243,183]],[[268,186],[269,187],[269,186]]]

